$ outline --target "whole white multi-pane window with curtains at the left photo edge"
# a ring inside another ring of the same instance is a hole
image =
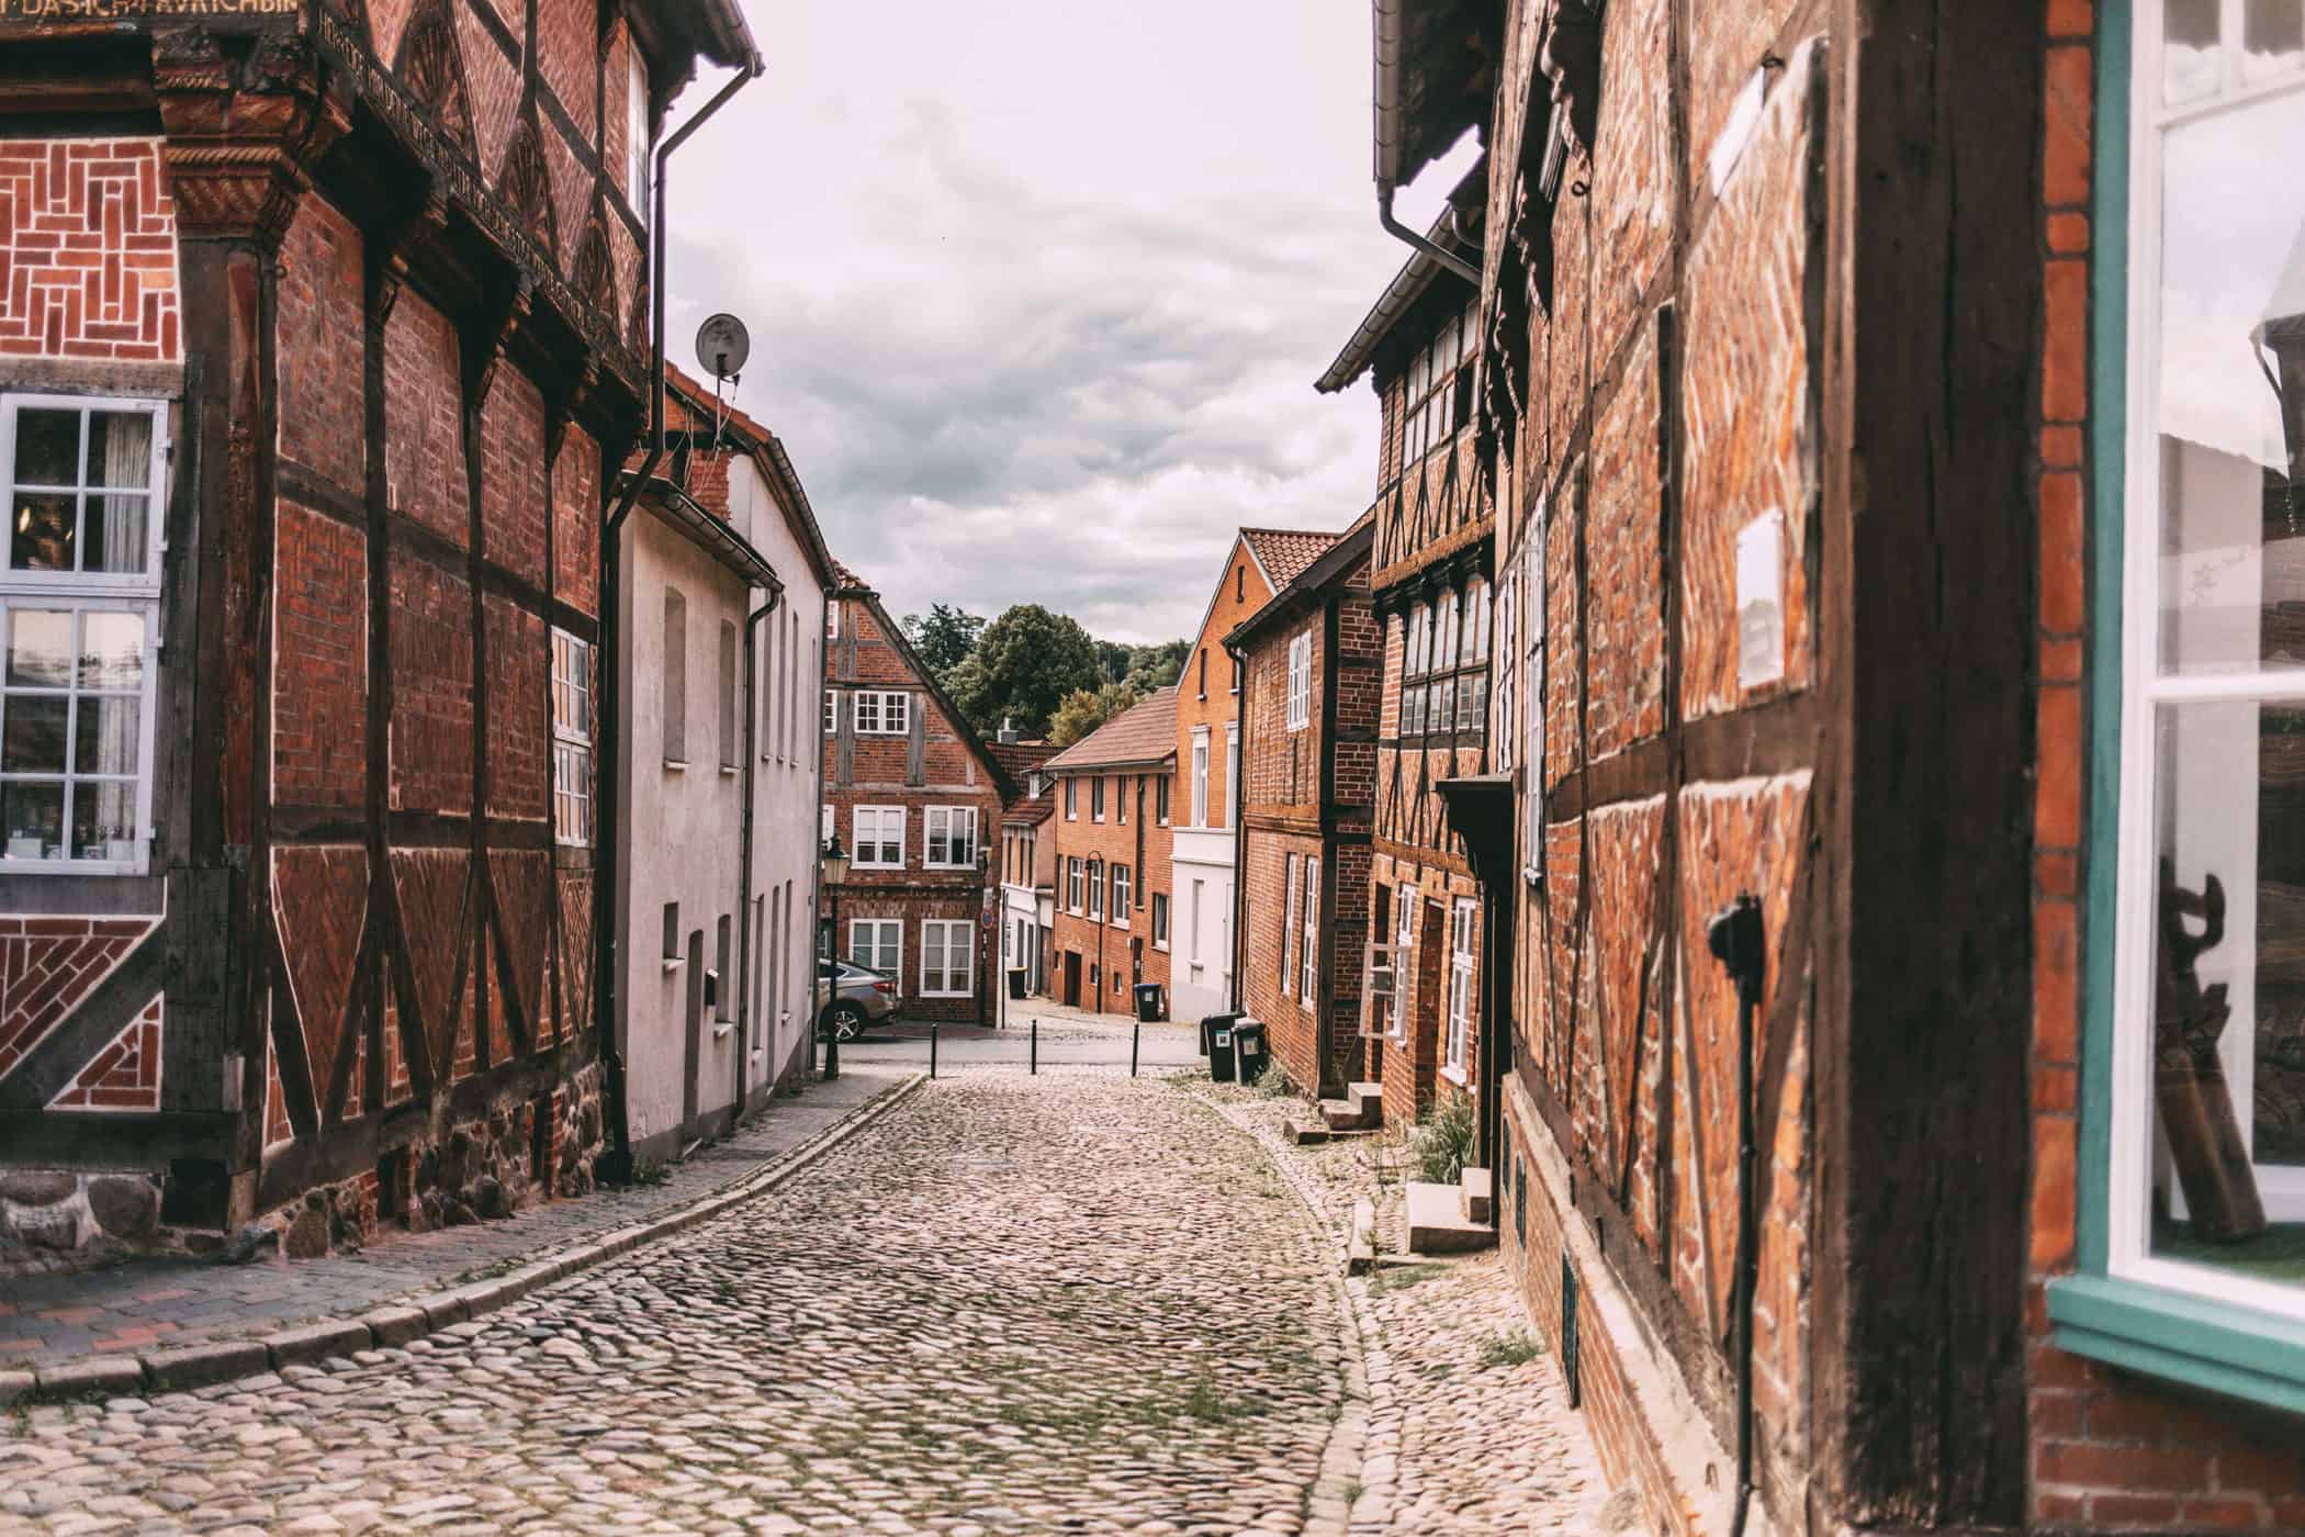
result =
[[[148,869],[164,412],[0,394],[0,869]]]

